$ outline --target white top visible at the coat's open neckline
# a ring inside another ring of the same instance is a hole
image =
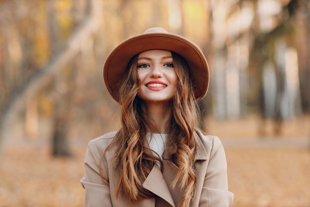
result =
[[[152,134],[151,138],[151,133],[147,133],[147,139],[150,148],[154,150],[160,156],[161,159],[167,137],[168,134]]]

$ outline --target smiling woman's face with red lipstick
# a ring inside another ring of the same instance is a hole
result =
[[[176,92],[178,77],[170,51],[148,50],[139,54],[138,77],[141,89],[138,96],[146,103],[165,102]]]

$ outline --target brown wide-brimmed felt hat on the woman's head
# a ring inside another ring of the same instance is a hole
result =
[[[138,53],[156,49],[173,51],[186,60],[194,86],[195,98],[204,98],[209,85],[209,69],[204,54],[190,40],[168,33],[160,27],[147,29],[142,34],[124,40],[107,56],[103,66],[103,79],[112,98],[119,102],[120,81],[126,75],[129,61]]]

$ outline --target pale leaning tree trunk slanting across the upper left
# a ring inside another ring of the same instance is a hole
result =
[[[81,50],[82,44],[92,38],[92,35],[100,28],[102,9],[100,0],[90,0],[89,14],[77,26],[67,43],[6,102],[0,117],[0,151],[1,143],[6,137],[6,130],[12,124],[15,115],[23,108],[25,100],[38,92],[46,80],[70,62]]]

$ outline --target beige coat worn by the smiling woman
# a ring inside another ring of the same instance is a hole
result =
[[[85,207],[175,207],[181,198],[178,187],[170,187],[178,167],[169,160],[163,160],[163,173],[155,165],[143,183],[143,187],[156,195],[155,198],[143,199],[137,204],[128,204],[120,194],[115,198],[118,185],[113,168],[114,150],[109,149],[103,157],[104,184],[99,173],[99,162],[106,146],[116,132],[108,133],[89,142],[85,158],[85,175],[81,180],[85,188]],[[195,161],[197,186],[190,207],[230,207],[233,194],[228,191],[227,163],[221,141],[217,137],[205,136],[197,131],[195,138],[198,144],[198,156]],[[168,149],[169,154],[175,147]],[[165,157],[164,157],[165,158]]]

